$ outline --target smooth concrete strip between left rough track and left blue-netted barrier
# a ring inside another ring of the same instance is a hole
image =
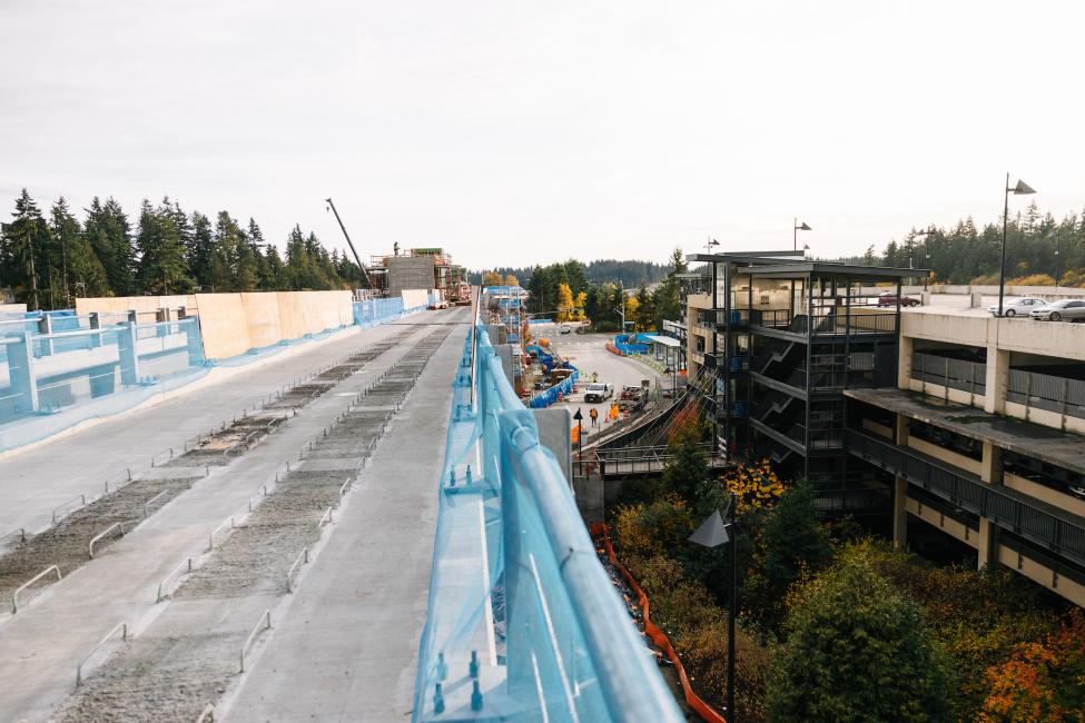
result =
[[[51,512],[79,495],[101,494],[103,483],[125,469],[150,466],[151,456],[278,392],[295,379],[367,345],[388,339],[403,324],[441,321],[448,313],[420,313],[397,325],[351,329],[298,346],[254,366],[223,368],[184,387],[168,400],[121,413],[0,457],[0,535],[36,532]],[[221,372],[221,375],[219,375]]]

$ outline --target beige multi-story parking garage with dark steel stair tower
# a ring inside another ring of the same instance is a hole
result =
[[[917,269],[690,261],[687,353],[721,445],[807,477],[826,514],[955,538],[1085,604],[1085,327],[904,309]]]

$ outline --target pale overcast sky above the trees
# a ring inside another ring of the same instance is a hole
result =
[[[1069,0],[0,0],[0,209],[168,194],[363,257],[819,256],[1085,206]],[[1012,200],[1017,201],[1029,199]],[[1013,206],[1012,206],[1012,211]]]

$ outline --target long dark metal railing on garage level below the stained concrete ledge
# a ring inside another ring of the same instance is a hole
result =
[[[975,515],[987,517],[1045,549],[1085,564],[1085,523],[1056,516],[1024,495],[987,485],[931,462],[928,457],[897,447],[855,429],[845,432],[851,454]]]

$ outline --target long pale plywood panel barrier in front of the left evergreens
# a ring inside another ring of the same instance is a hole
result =
[[[424,305],[425,291],[421,294],[421,305]],[[196,294],[76,300],[78,314],[124,314],[129,309],[152,314],[161,307],[178,306],[199,315],[204,353],[208,359],[224,359],[249,349],[354,324],[349,291]]]

